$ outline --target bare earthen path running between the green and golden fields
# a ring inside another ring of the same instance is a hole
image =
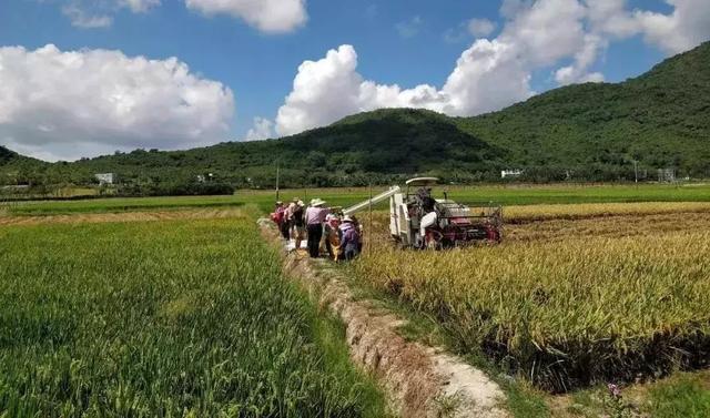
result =
[[[268,220],[258,221],[267,241],[282,247]],[[282,253],[283,254],[283,253]],[[440,347],[407,341],[397,328],[406,322],[357,300],[342,273],[324,259],[292,252],[284,273],[345,325],[351,358],[386,389],[394,411],[404,418],[490,417],[509,414],[503,390],[481,370]]]

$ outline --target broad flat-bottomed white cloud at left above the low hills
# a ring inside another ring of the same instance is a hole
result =
[[[205,145],[224,140],[233,114],[230,89],[175,58],[0,48],[0,144],[30,155]]]

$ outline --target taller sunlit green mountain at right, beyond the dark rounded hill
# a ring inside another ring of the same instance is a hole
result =
[[[710,176],[710,42],[618,84],[581,84],[459,121],[519,166],[613,167],[637,160]]]

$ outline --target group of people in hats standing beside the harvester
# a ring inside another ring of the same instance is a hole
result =
[[[334,261],[353,259],[363,248],[362,228],[354,216],[338,216],[334,207],[326,207],[320,198],[311,201],[308,207],[298,197],[288,204],[276,202],[272,221],[278,225],[284,239],[293,238],[294,248],[301,248],[304,235],[307,236],[308,255],[321,256],[324,243],[328,256]]]

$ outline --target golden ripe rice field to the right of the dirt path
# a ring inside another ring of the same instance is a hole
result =
[[[448,252],[396,249],[378,213],[383,239],[354,268],[434,316],[458,349],[483,350],[562,391],[707,366],[708,212],[667,203],[511,207],[521,225],[509,224],[503,244]]]

